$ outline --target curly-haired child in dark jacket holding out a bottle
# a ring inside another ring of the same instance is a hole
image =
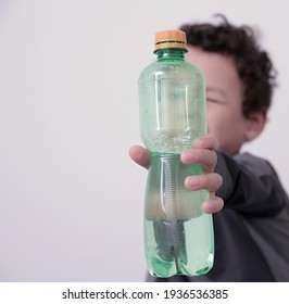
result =
[[[188,39],[186,59],[206,78],[209,136],[184,152],[181,161],[204,167],[204,175],[188,177],[185,185],[210,191],[203,207],[213,213],[214,267],[199,277],[149,276],[150,281],[289,281],[288,197],[267,161],[240,153],[266,124],[274,68],[250,27],[222,18],[217,25],[180,28]],[[146,149],[135,145],[129,153],[149,166]]]

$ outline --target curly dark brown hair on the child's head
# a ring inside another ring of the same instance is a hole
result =
[[[194,23],[180,26],[187,34],[188,45],[234,58],[243,84],[242,112],[246,117],[268,109],[276,86],[276,71],[268,53],[257,45],[252,27],[237,27],[224,15],[216,16],[222,18],[217,25]]]

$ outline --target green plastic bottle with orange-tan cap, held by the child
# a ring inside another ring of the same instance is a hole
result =
[[[185,60],[186,34],[155,34],[158,60],[139,76],[141,139],[150,153],[144,198],[144,252],[152,276],[198,276],[214,261],[212,215],[202,211],[206,190],[185,188],[201,165],[184,165],[180,153],[206,135],[205,80]]]

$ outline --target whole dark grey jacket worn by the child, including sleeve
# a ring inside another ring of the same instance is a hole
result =
[[[149,281],[289,281],[289,200],[272,165],[249,153],[218,152],[223,176],[213,215],[214,267],[203,276],[148,277]]]

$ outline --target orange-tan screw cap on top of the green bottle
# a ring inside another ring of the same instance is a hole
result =
[[[187,50],[187,36],[183,30],[160,30],[154,36],[154,51],[166,48]]]

